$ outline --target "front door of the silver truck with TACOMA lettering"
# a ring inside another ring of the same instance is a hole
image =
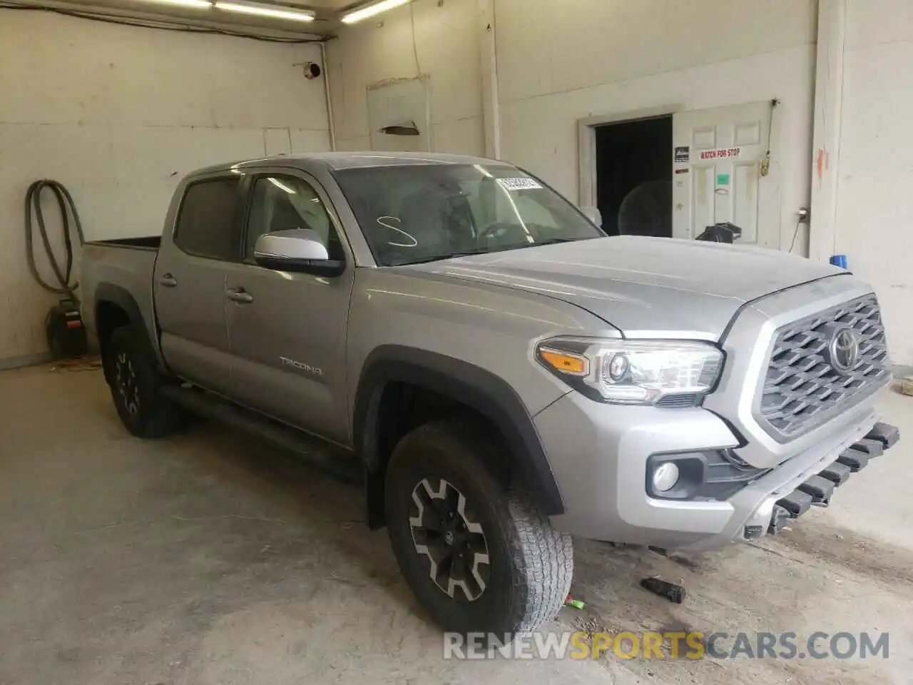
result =
[[[244,255],[227,267],[233,395],[252,408],[341,444],[348,441],[345,336],[354,265],[310,176],[256,174],[251,179]],[[265,269],[254,261],[264,233],[310,228],[341,276]]]

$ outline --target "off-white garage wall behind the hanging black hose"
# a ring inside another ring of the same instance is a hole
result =
[[[329,149],[323,80],[304,79],[307,61],[320,62],[319,46],[0,9],[0,365],[47,351],[55,301],[26,269],[28,184],[65,184],[87,240],[157,235],[195,168]],[[56,232],[53,199],[44,206]]]

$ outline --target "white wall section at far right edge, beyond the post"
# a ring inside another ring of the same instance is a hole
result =
[[[834,253],[872,283],[897,364],[913,364],[913,3],[849,0]]]

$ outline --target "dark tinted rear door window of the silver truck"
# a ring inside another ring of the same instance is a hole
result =
[[[174,232],[178,248],[197,257],[237,258],[237,183],[237,178],[216,178],[187,187]]]

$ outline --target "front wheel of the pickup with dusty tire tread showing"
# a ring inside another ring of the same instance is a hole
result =
[[[488,465],[493,440],[457,419],[416,428],[394,449],[385,483],[396,561],[419,603],[447,631],[529,632],[571,587],[571,536],[555,531]]]

